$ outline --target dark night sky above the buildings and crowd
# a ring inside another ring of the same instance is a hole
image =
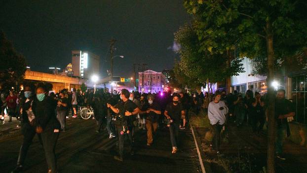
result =
[[[170,48],[174,32],[189,21],[183,0],[6,0],[0,2],[0,30],[28,66],[46,71],[71,63],[71,50],[101,57],[110,68],[109,40],[116,39],[114,76],[129,77],[133,63],[161,71],[178,57]],[[107,60],[107,61],[106,61]]]

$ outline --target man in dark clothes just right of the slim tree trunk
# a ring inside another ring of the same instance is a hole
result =
[[[277,96],[275,101],[275,120],[276,120],[276,157],[281,160],[286,160],[284,157],[282,147],[287,137],[290,136],[289,121],[293,120],[295,116],[295,107],[293,103],[285,98],[286,91],[284,89],[277,90]]]

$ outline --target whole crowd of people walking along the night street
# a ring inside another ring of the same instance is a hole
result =
[[[282,156],[282,144],[285,134],[289,135],[288,121],[295,115],[292,103],[285,99],[285,91],[277,92],[275,119],[277,122],[276,154]],[[55,146],[60,132],[65,132],[66,119],[78,117],[78,107],[92,107],[97,129],[101,133],[108,132],[109,138],[117,137],[118,155],[115,160],[124,160],[125,135],[128,137],[128,151],[134,155],[134,138],[136,128],[147,130],[147,146],[155,141],[157,129],[167,127],[170,132],[171,153],[178,151],[179,130],[185,130],[191,118],[191,111],[198,115],[204,112],[207,115],[213,130],[212,150],[221,154],[221,131],[227,129],[231,121],[238,128],[244,124],[251,127],[257,135],[262,132],[266,122],[268,103],[259,92],[226,94],[226,91],[185,92],[171,93],[139,93],[122,89],[120,93],[109,93],[106,89],[87,89],[82,92],[72,88],[71,91],[62,89],[59,93],[52,92],[52,85],[39,83],[24,84],[24,89],[18,94],[14,90],[9,95],[1,93],[1,119],[4,110],[9,116],[16,117],[22,126],[24,136],[20,147],[17,166],[13,173],[22,171],[27,151],[34,136],[37,134],[43,146],[48,165],[48,172],[57,172]],[[71,113],[70,113],[71,112]]]

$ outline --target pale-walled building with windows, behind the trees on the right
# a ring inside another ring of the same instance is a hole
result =
[[[244,58],[242,63],[246,72],[231,77],[230,91],[245,93],[250,89],[254,93],[257,91],[264,95],[268,91],[268,85],[272,85],[275,90],[285,89],[286,98],[295,106],[294,121],[289,124],[291,131],[289,139],[307,146],[305,142],[307,141],[307,64],[296,62],[295,59],[292,59],[291,63],[284,62],[280,72],[275,74],[273,83],[268,84],[266,76],[252,74],[250,59]]]

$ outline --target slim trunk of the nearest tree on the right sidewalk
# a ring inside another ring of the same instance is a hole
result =
[[[274,48],[273,34],[271,31],[271,23],[267,21],[267,53],[268,53],[268,173],[275,173],[275,95],[272,82],[274,80]]]

